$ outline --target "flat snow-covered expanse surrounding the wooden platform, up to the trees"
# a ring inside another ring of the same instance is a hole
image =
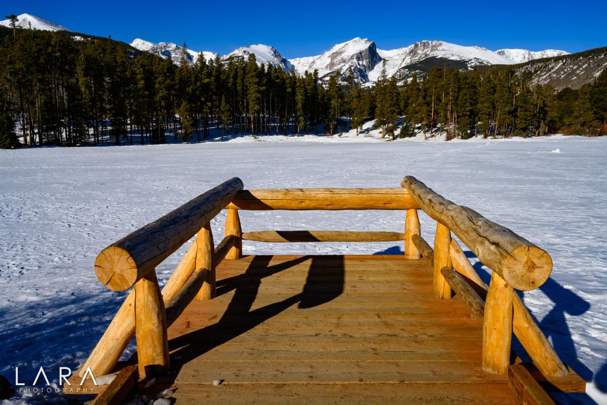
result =
[[[14,382],[19,367],[31,384],[40,366],[55,380],[59,366],[75,370],[125,296],[98,282],[97,253],[230,177],[246,188],[399,187],[409,174],[551,254],[551,279],[524,302],[565,362],[596,382],[590,395],[607,403],[607,138],[356,140],[0,151],[0,374]],[[243,230],[402,231],[404,213],[245,211],[241,219]],[[216,240],[224,221],[222,213],[212,222]],[[435,223],[422,215],[421,224],[431,241]],[[185,248],[157,268],[161,282]],[[393,242],[245,242],[244,250],[402,252]]]

